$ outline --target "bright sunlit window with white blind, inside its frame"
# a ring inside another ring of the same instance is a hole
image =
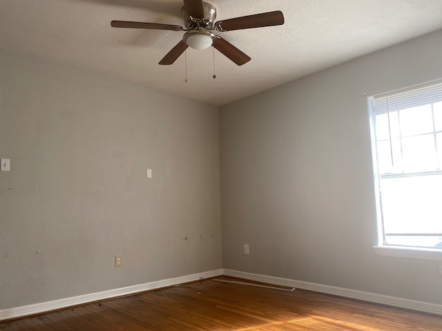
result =
[[[379,244],[442,251],[442,81],[370,105]]]

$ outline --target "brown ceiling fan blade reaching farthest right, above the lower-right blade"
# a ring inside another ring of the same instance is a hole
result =
[[[281,26],[282,24],[284,24],[284,15],[280,10],[277,10],[276,12],[263,12],[262,14],[218,21],[215,23],[215,28],[219,31],[232,31],[265,26]]]

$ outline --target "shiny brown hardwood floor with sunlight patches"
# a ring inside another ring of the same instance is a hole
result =
[[[442,330],[442,317],[209,279],[3,322],[0,330],[435,331]]]

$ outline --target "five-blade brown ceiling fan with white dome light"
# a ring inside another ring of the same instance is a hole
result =
[[[133,21],[112,21],[114,28],[139,28],[153,30],[185,31],[182,41],[172,48],[159,64],[170,65],[180,57],[180,55],[190,46],[196,50],[204,50],[213,46],[226,57],[235,62],[238,66],[250,61],[250,57],[238,50],[229,41],[213,34],[211,31],[219,32],[261,28],[265,26],[280,26],[284,24],[282,12],[263,12],[234,19],[225,19],[215,22],[216,8],[210,3],[202,0],[184,0],[184,7],[181,10],[184,18],[184,26],[173,26],[161,23],[144,23]]]

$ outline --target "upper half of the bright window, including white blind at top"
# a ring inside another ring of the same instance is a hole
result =
[[[442,81],[373,99],[381,176],[442,170]]]

